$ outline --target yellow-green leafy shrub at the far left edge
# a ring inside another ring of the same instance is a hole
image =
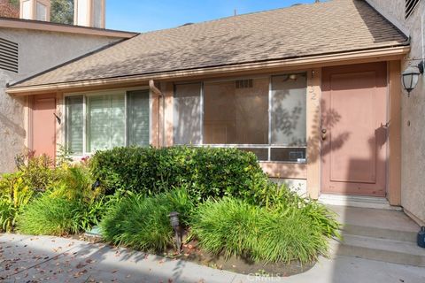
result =
[[[12,232],[20,212],[34,192],[25,184],[22,173],[4,174],[0,179],[0,231]]]

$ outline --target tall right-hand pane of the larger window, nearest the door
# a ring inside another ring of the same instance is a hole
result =
[[[272,77],[271,144],[306,144],[305,73]]]

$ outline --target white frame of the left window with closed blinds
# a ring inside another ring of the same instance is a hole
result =
[[[128,146],[128,91],[135,90],[148,90],[149,91],[149,145],[152,143],[152,92],[149,87],[134,87],[134,88],[112,88],[112,89],[102,89],[102,90],[90,90],[90,91],[80,91],[80,92],[71,92],[64,93],[63,103],[62,103],[62,113],[65,117],[65,125],[62,127],[62,143],[67,148],[66,134],[68,128],[68,117],[66,111],[66,97],[71,96],[82,96],[82,115],[83,115],[83,124],[82,124],[82,154],[73,154],[72,157],[89,157],[95,152],[87,152],[87,142],[88,142],[88,115],[87,115],[87,97],[88,96],[108,96],[108,95],[123,95],[124,96],[124,108],[125,108],[125,134],[124,134],[124,146]]]

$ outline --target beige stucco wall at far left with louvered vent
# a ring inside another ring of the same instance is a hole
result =
[[[0,173],[11,172],[14,157],[25,147],[27,98],[4,92],[6,83],[22,80],[55,65],[97,50],[117,38],[0,28],[0,38],[19,44],[19,73],[0,69]]]

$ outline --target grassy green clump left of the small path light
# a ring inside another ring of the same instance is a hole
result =
[[[184,189],[147,197],[130,194],[117,203],[100,223],[105,241],[144,251],[164,251],[174,244],[169,213],[178,211],[187,224],[193,202]]]

